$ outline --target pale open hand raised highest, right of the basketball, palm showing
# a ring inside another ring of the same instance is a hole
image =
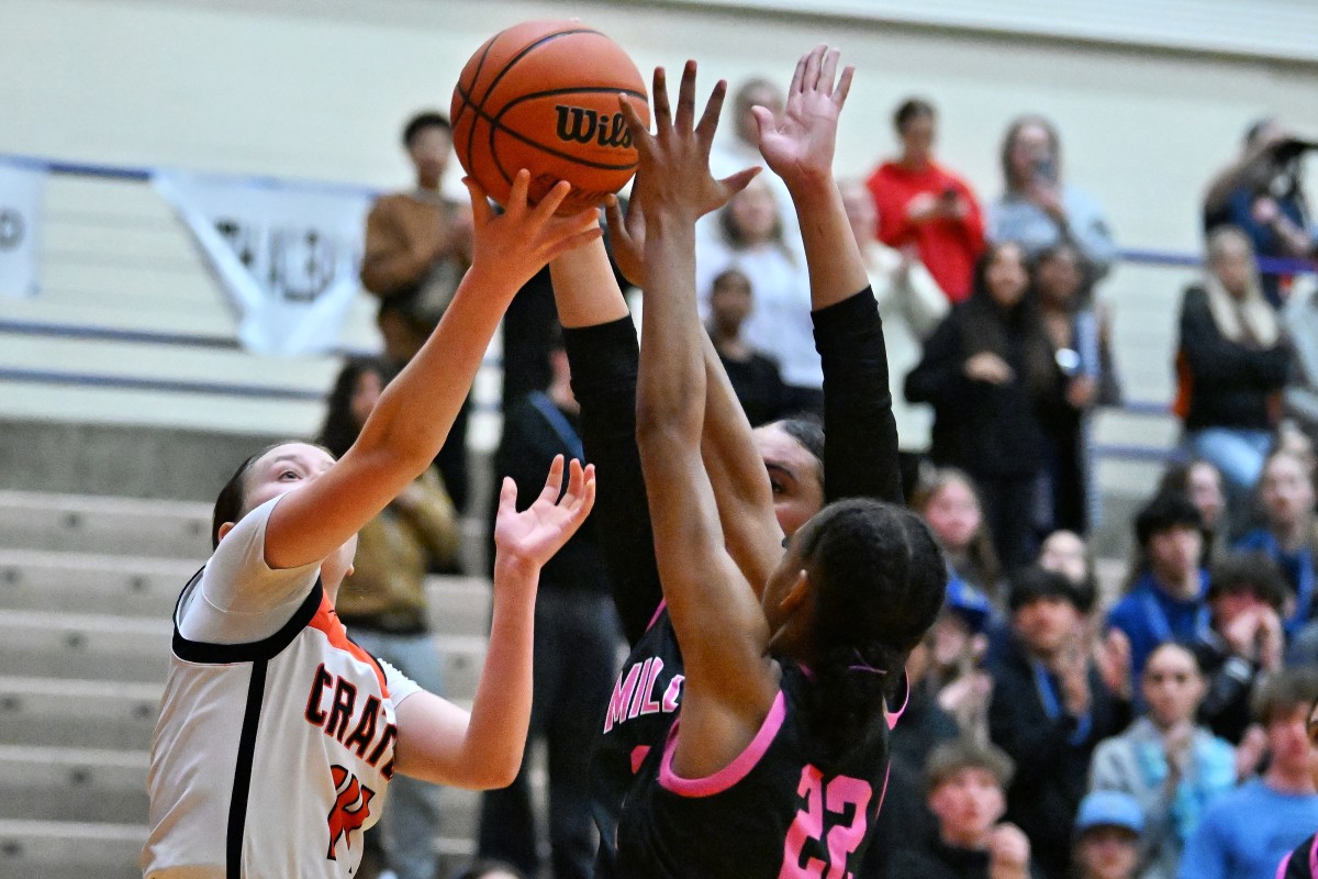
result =
[[[837,59],[837,49],[820,45],[796,62],[780,120],[763,107],[751,108],[759,124],[759,152],[789,190],[832,178],[837,120],[855,72],[845,67],[834,87]]]

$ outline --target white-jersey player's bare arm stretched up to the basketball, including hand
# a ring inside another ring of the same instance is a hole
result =
[[[517,175],[507,211],[497,217],[480,187],[468,182],[476,223],[471,270],[439,327],[380,397],[352,448],[275,506],[265,538],[270,567],[324,559],[430,465],[513,295],[551,258],[600,236],[593,211],[554,216],[571,188],[567,183],[531,207],[529,179],[526,171]]]

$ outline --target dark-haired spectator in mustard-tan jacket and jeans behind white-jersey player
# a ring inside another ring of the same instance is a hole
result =
[[[384,391],[390,368],[349,360],[339,372],[319,441],[341,459]],[[357,534],[352,573],[335,610],[362,650],[393,664],[432,693],[443,692],[442,660],[430,631],[426,572],[457,556],[461,535],[453,503],[434,468],[422,473]],[[389,787],[389,809],[368,846],[398,879],[431,879],[439,825],[439,788],[405,775]]]

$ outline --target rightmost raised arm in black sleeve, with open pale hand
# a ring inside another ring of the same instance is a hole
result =
[[[838,51],[828,46],[801,58],[782,121],[754,108],[759,149],[792,194],[805,245],[824,369],[824,496],[902,503],[883,323],[833,179],[837,124],[853,76],[845,67],[834,88],[837,62]]]

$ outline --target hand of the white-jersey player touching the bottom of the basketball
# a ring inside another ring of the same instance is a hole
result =
[[[480,183],[472,178],[463,178],[463,183],[472,198],[472,266],[500,273],[513,282],[514,290],[554,257],[604,235],[594,210],[576,216],[554,216],[572,190],[567,181],[559,181],[539,204],[531,206],[526,200],[531,173],[518,171],[507,208],[500,215],[494,213]]]

